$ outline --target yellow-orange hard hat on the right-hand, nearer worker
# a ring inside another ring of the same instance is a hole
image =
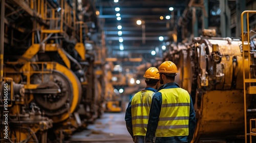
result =
[[[167,74],[173,74],[173,73],[179,73],[177,66],[172,61],[164,61],[159,66],[158,73],[167,73]]]

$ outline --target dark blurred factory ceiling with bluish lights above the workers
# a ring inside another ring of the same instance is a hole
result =
[[[166,45],[168,35],[172,33],[187,3],[187,0],[97,0],[96,10],[105,33],[109,57],[142,57],[144,62],[155,62],[155,58],[161,58],[162,45]],[[173,11],[169,10],[170,7],[173,7]],[[116,11],[116,8],[120,10]],[[166,19],[166,16],[170,16],[170,19]],[[121,19],[117,20],[117,17]],[[141,20],[142,24],[137,25],[137,20]],[[122,27],[120,30],[119,25]],[[118,35],[118,31],[122,34]],[[163,36],[163,41],[159,40],[160,36]],[[152,51],[156,55],[153,56]]]

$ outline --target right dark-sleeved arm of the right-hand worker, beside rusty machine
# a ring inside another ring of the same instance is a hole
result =
[[[188,134],[188,142],[190,142],[193,139],[194,131],[196,128],[196,113],[194,110],[194,105],[192,102],[192,99],[190,97],[190,110],[189,110],[189,122],[188,122],[188,127],[189,127],[189,134]]]

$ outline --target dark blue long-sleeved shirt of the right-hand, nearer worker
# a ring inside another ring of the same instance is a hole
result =
[[[179,88],[180,86],[173,82],[167,83],[161,87],[159,87],[158,91],[161,89],[167,88]],[[162,107],[162,93],[156,92],[152,98],[151,108],[150,108],[150,116],[147,124],[146,131],[146,142],[153,142],[153,138],[156,133],[159,115]],[[190,97],[190,111],[189,111],[189,134],[188,136],[173,136],[173,137],[157,137],[156,142],[189,142],[193,139],[193,134],[196,127],[196,113],[194,110],[193,102]]]

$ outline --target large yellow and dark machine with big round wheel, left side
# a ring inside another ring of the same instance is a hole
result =
[[[93,3],[1,3],[1,80],[12,91],[8,140],[62,142],[103,111],[104,41]]]

